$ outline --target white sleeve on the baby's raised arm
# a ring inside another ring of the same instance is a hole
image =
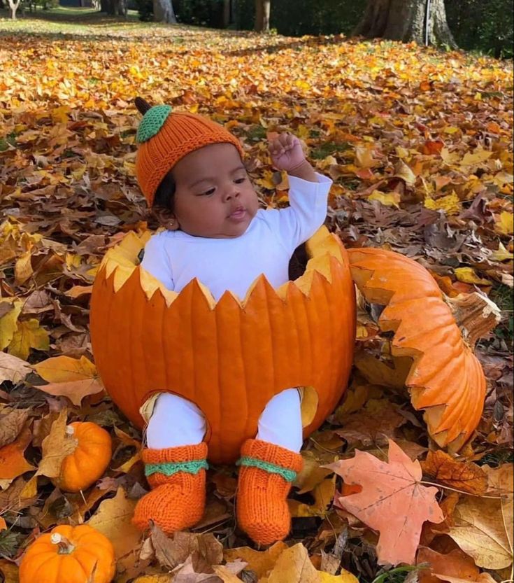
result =
[[[289,178],[289,204],[278,211],[278,235],[290,253],[321,227],[327,217],[330,178],[315,173],[319,182]]]

